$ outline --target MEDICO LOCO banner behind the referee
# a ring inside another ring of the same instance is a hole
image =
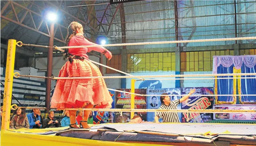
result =
[[[147,109],[158,109],[161,106],[160,96],[163,93],[168,93],[171,101],[180,99],[180,88],[164,88],[164,89],[147,89],[148,95],[155,95],[155,96],[148,96],[147,97]],[[181,104],[177,106],[177,109],[181,109]],[[155,119],[155,113],[154,112],[148,112],[148,122],[153,122]],[[181,113],[178,113],[178,116],[181,120]],[[162,119],[159,119],[161,122]]]

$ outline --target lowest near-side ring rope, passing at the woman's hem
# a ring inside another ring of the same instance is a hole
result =
[[[11,109],[46,109],[46,107],[21,107],[16,105],[11,105]],[[14,106],[14,107],[13,107]],[[52,108],[51,108],[52,109]],[[83,109],[83,108],[66,108],[58,110],[83,110],[83,111],[113,111],[113,112],[189,112],[189,113],[256,113],[256,110],[220,110],[220,109]]]

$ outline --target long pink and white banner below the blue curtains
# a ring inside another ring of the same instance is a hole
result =
[[[220,110],[256,110],[256,105],[245,105],[245,106],[236,106],[236,105],[216,105],[214,109]],[[256,114],[239,114],[239,113],[214,113],[214,120],[226,119],[226,120],[256,120]]]

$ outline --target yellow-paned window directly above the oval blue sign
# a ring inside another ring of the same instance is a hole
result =
[[[127,72],[175,71],[175,52],[127,54]]]

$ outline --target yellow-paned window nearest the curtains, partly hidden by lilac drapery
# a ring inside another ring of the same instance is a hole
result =
[[[180,71],[212,71],[213,56],[234,55],[234,50],[180,52]]]

